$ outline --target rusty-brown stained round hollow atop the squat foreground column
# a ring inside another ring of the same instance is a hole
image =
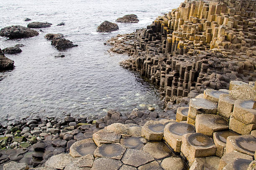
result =
[[[189,136],[188,142],[190,145],[197,146],[197,147],[211,147],[214,145],[212,138],[209,138],[202,133],[193,133]]]

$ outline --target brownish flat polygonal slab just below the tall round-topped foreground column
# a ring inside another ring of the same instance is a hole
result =
[[[171,155],[171,151],[163,142],[148,142],[143,151],[152,155],[155,160],[160,160]]]

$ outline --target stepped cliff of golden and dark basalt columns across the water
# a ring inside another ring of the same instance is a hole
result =
[[[255,10],[250,0],[185,1],[146,29],[108,43],[132,55],[121,65],[149,77],[166,104],[179,102],[191,90],[256,80]]]

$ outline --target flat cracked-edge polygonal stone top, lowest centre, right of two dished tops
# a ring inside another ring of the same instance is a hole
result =
[[[153,161],[154,158],[142,150],[127,149],[123,155],[122,162],[126,165],[139,167]]]

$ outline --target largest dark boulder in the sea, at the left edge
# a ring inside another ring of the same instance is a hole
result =
[[[8,37],[10,39],[34,37],[38,34],[39,33],[36,30],[32,30],[20,25],[12,25],[0,30],[0,36]]]

